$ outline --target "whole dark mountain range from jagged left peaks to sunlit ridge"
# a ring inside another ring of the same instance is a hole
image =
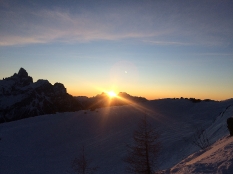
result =
[[[24,68],[0,80],[0,123],[57,112],[95,110],[106,106],[145,102],[143,97],[133,97],[125,92],[111,99],[106,93],[94,97],[74,97],[67,93],[62,83],[52,85],[48,80],[33,82]]]

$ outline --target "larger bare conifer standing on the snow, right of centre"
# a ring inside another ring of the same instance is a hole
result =
[[[133,145],[127,145],[128,155],[124,158],[127,172],[135,174],[152,174],[160,150],[158,133],[143,117],[138,129],[133,134]]]

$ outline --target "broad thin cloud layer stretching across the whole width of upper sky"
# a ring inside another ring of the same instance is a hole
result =
[[[0,46],[124,39],[164,46],[231,43],[229,20],[225,19],[224,25],[221,19],[215,18],[213,22],[212,16],[203,15],[204,9],[198,6],[184,11],[175,4],[163,3],[163,10],[160,5],[106,7],[102,11],[81,8],[75,12],[59,7],[32,10],[6,6],[0,11]],[[200,14],[196,14],[197,10]]]

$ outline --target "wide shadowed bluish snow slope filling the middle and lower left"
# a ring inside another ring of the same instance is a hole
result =
[[[1,173],[73,173],[71,163],[83,145],[99,167],[96,173],[125,173],[125,144],[131,142],[144,114],[160,133],[159,169],[167,169],[200,150],[188,141],[195,127],[206,128],[211,142],[228,135],[226,119],[233,115],[232,105],[232,99],[199,103],[164,99],[3,123]]]

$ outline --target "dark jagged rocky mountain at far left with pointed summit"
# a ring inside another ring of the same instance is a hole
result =
[[[0,123],[22,118],[82,109],[61,83],[48,80],[33,83],[25,69],[0,80]]]

